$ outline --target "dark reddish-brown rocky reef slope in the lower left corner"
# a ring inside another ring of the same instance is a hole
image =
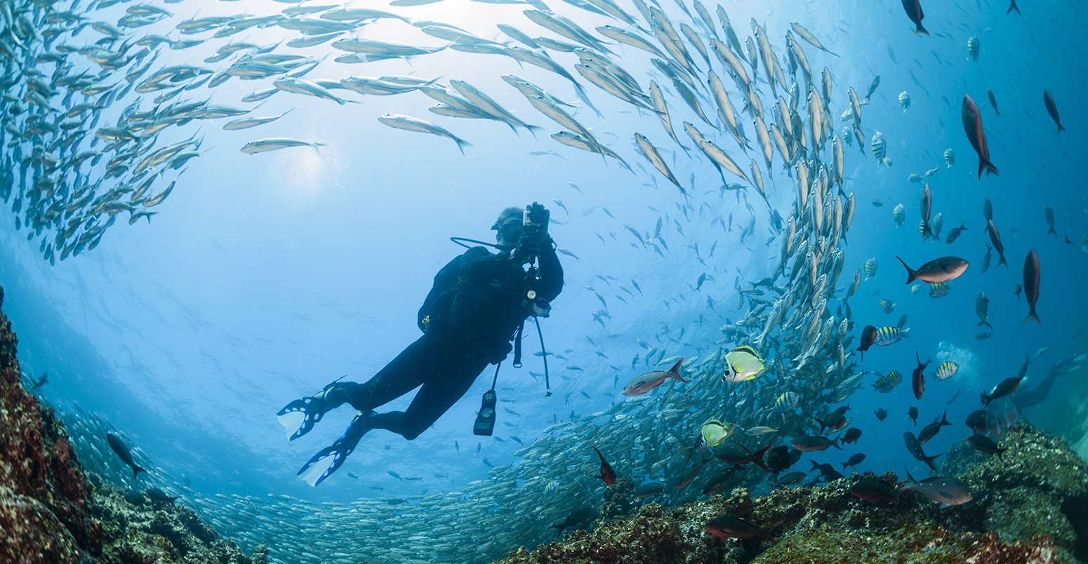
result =
[[[246,556],[187,507],[133,504],[86,476],[52,410],[23,388],[15,346],[0,312],[0,562],[267,562],[263,547]]]

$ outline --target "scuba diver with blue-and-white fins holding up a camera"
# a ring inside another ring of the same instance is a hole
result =
[[[496,231],[496,245],[470,240],[495,247],[497,254],[471,247],[434,276],[417,315],[423,331],[419,339],[367,383],[335,380],[280,410],[277,416],[287,431],[297,428],[290,440],[309,433],[325,413],[344,403],[359,411],[344,435],[298,471],[300,476],[313,486],[321,484],[371,429],[415,439],[465,396],[489,364],[496,365],[497,378],[497,365],[511,350],[516,351],[515,366],[520,366],[520,337],[527,317],[546,317],[549,302],[562,290],[562,267],[547,234],[548,217],[548,211],[536,202],[524,209],[503,210],[491,227]],[[454,241],[459,243],[458,238]],[[528,271],[524,265],[529,265]],[[419,391],[407,410],[374,412],[416,388]],[[473,431],[491,435],[494,384],[483,403]],[[486,417],[490,421],[481,423]]]

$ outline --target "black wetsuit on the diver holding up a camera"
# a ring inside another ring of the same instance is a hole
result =
[[[562,266],[553,245],[543,246],[539,270],[537,296],[552,301],[562,290]],[[528,315],[526,289],[521,264],[507,253],[473,247],[449,261],[434,276],[419,310],[423,336],[369,381],[343,383],[346,403],[359,411],[373,410],[422,386],[406,411],[369,418],[371,428],[415,439],[468,391],[489,364],[509,354],[511,337]]]

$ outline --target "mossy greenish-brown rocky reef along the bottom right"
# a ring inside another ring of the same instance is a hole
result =
[[[850,493],[866,473],[823,487],[753,498],[737,488],[670,510],[645,505],[634,517],[577,530],[561,541],[524,548],[503,562],[1076,562],[1088,560],[1088,464],[1061,440],[1025,425],[1001,441],[1002,459],[976,455],[966,441],[950,449],[942,475],[956,475],[976,501],[940,510],[913,490],[886,503]],[[966,450],[964,450],[966,449]],[[618,500],[610,498],[610,503]],[[705,528],[731,515],[772,527],[776,542],[720,540]],[[1079,536],[1078,536],[1079,535]]]

